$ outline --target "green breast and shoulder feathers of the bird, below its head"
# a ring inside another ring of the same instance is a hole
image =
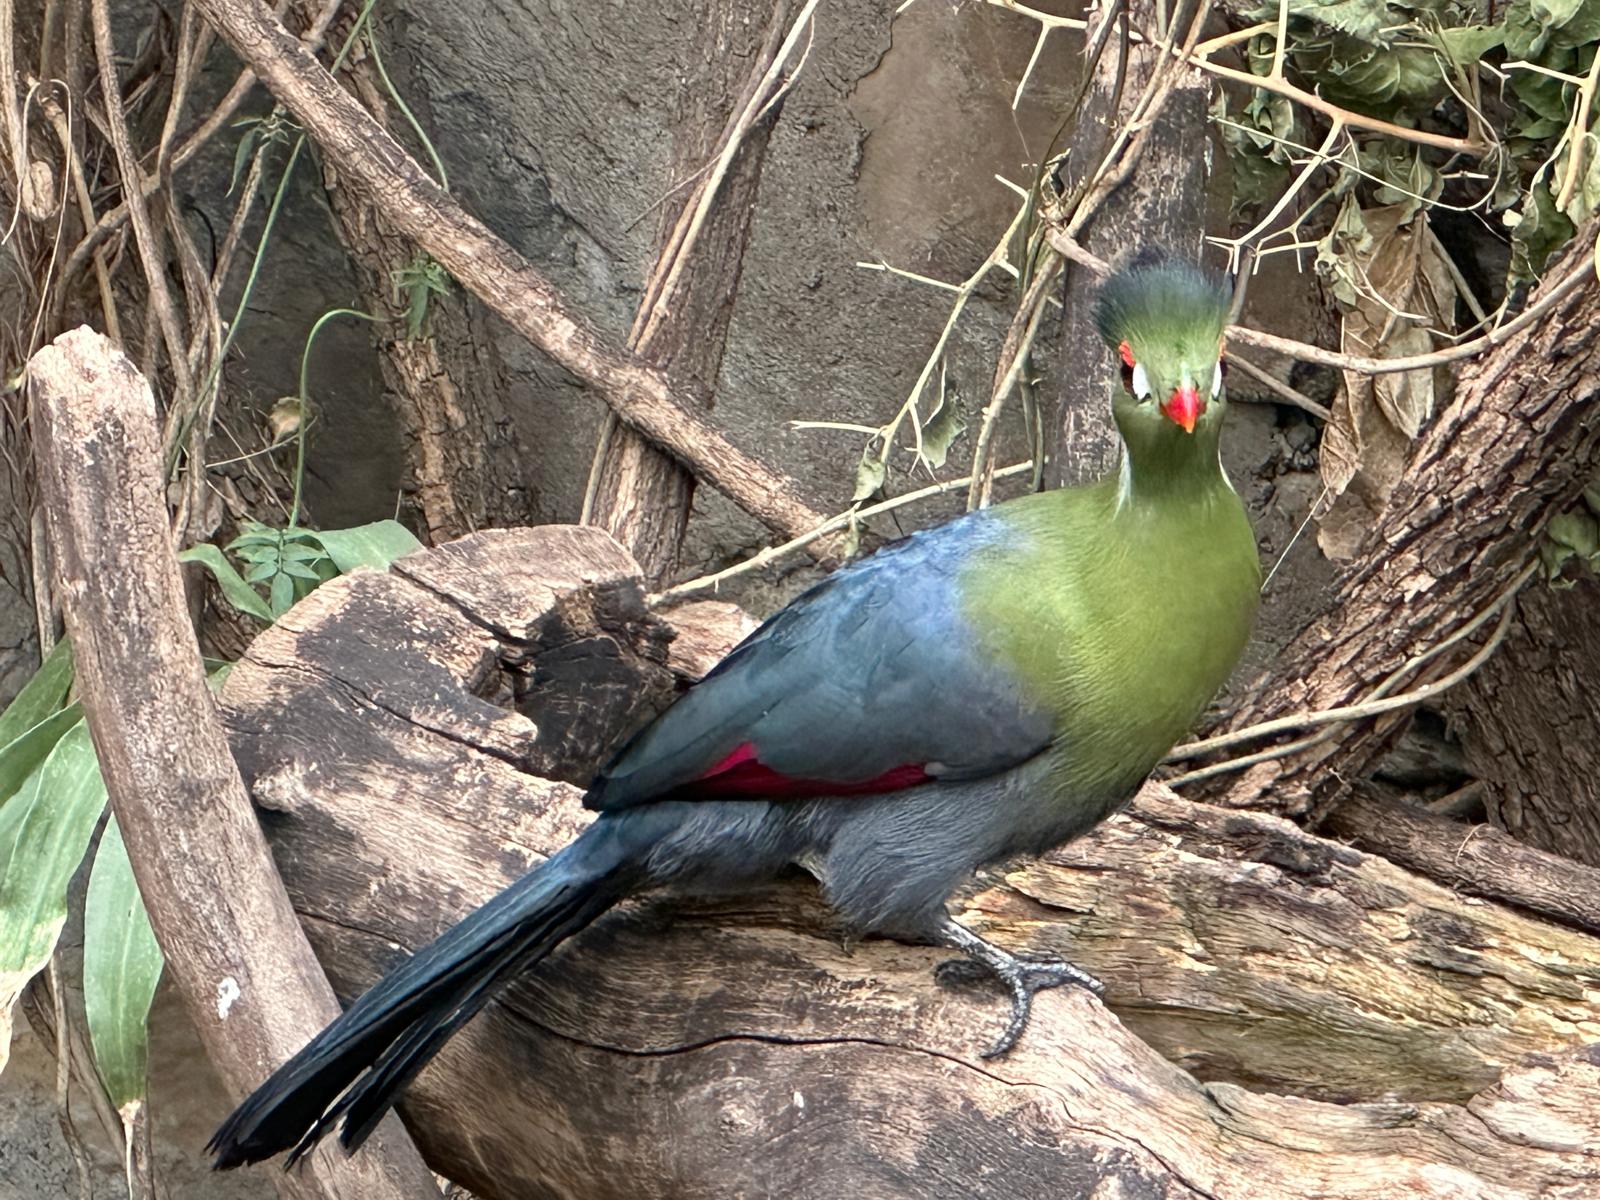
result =
[[[1006,506],[1014,536],[963,579],[986,648],[1056,714],[1051,779],[1074,805],[1126,798],[1245,650],[1261,566],[1214,478],[1139,504],[1106,480]]]

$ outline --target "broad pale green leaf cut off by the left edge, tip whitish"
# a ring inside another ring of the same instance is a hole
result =
[[[0,1067],[11,1013],[67,922],[67,883],[106,808],[90,731],[78,722],[0,808]]]

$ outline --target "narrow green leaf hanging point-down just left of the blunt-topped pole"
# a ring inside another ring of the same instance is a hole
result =
[[[94,1066],[118,1112],[144,1099],[150,1002],[160,978],[162,947],[112,818],[83,902],[83,1013]]]

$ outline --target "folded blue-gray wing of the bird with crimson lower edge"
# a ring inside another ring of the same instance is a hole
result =
[[[1054,720],[962,603],[1002,533],[978,512],[837,571],[635,734],[584,803],[886,792],[1032,758]]]

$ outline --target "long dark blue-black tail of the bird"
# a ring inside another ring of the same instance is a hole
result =
[[[451,1034],[518,971],[645,882],[651,821],[602,816],[459,925],[379,979],[222,1122],[206,1149],[227,1170],[307,1154],[341,1118],[354,1150]]]

